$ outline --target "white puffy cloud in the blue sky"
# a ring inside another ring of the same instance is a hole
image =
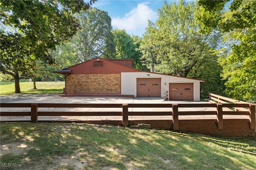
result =
[[[147,2],[142,2],[136,8],[126,13],[123,18],[112,18],[112,26],[118,29],[125,29],[127,32],[134,30],[145,31],[148,20],[156,20],[157,12],[147,6]]]

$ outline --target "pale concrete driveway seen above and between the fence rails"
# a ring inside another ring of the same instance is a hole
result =
[[[20,95],[2,95],[1,103],[208,103],[205,101],[164,101],[160,97],[59,97],[55,94],[20,94]],[[216,108],[180,108],[179,111],[215,111]],[[30,111],[30,108],[0,108],[0,111]],[[122,111],[122,108],[39,108],[38,111]],[[129,108],[129,111],[172,111],[172,108]],[[231,118],[230,115],[224,115],[224,119]],[[232,116],[234,118],[234,116]],[[244,116],[236,116],[243,118]],[[129,116],[129,120],[150,120],[150,119],[172,119],[172,116]],[[216,119],[216,115],[202,116],[179,116],[179,119]],[[68,121],[68,120],[122,120],[121,116],[39,116],[39,121]],[[30,121],[30,117],[0,117],[0,121]]]

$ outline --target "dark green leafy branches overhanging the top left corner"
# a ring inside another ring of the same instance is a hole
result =
[[[79,24],[72,13],[87,10],[92,2],[1,1],[1,22],[18,30],[15,34],[20,34],[20,42],[37,59],[53,63],[54,59],[48,54],[48,49],[54,49],[60,42],[76,34]],[[15,35],[8,28],[1,32],[1,36],[4,34],[10,37]]]

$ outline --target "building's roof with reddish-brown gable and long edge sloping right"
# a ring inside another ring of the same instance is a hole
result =
[[[103,59],[103,58],[94,58],[90,59],[88,61],[73,65],[71,67],[53,71],[53,73],[60,73],[60,74],[114,74],[114,73],[122,73],[122,72],[146,72],[146,73],[152,73],[150,71],[142,71],[138,69],[134,69],[131,67],[128,67],[126,65],[122,65],[121,61],[124,60],[126,62],[133,61],[132,59]],[[125,62],[124,62],[125,63]],[[163,74],[163,73],[155,73],[159,75],[168,75],[168,76],[174,76],[174,77],[180,77],[180,78],[186,78],[186,79],[193,79],[198,80],[201,82],[204,82],[202,79],[195,79],[195,78],[189,78],[189,77],[182,77],[177,75],[169,75],[169,74]]]

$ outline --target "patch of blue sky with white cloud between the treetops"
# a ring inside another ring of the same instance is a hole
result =
[[[167,2],[175,1],[168,0]],[[130,35],[141,37],[148,26],[148,20],[156,21],[157,10],[163,4],[164,0],[98,0],[92,7],[108,12],[113,29],[124,29]]]

